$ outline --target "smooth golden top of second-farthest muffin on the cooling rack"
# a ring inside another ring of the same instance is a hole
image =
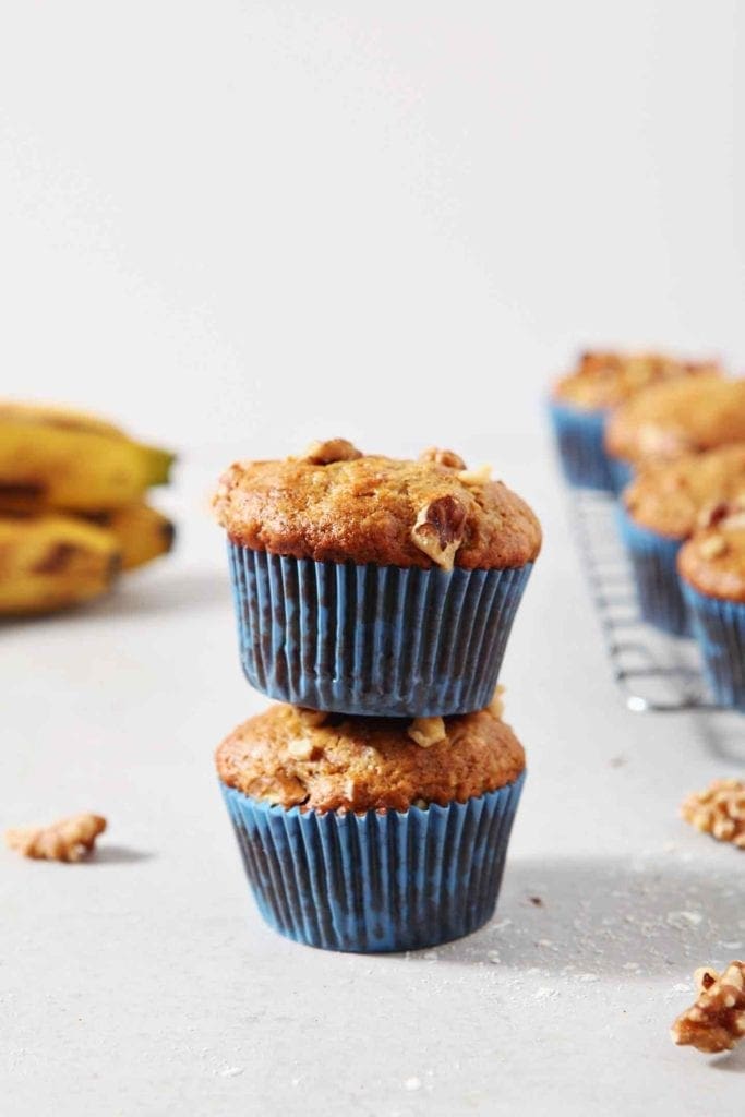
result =
[[[745,441],[745,380],[701,375],[657,384],[615,411],[605,428],[611,457],[670,461]]]

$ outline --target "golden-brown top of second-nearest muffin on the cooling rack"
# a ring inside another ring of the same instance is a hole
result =
[[[672,540],[745,510],[745,442],[642,467],[623,504],[636,523]]]

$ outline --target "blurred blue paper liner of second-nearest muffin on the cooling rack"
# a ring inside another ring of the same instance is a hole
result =
[[[631,560],[642,618],[671,636],[690,636],[690,617],[676,566],[681,541],[641,527],[622,505],[617,508],[617,519]]]

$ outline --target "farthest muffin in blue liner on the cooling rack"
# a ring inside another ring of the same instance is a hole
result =
[[[550,403],[566,479],[582,488],[615,491],[619,486],[603,446],[611,410],[650,384],[716,371],[711,362],[658,353],[583,353],[576,369],[556,383]]]

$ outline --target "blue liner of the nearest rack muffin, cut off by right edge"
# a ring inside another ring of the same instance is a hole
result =
[[[745,604],[681,585],[715,700],[745,712]]]

